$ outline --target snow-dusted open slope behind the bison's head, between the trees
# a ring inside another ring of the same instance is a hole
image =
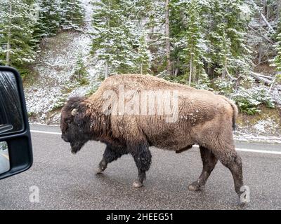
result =
[[[27,111],[33,123],[58,123],[59,113],[55,113],[58,105],[67,97],[84,95],[98,85],[100,63],[89,55],[92,6],[88,0],[81,2],[86,10],[84,31],[63,32],[48,38],[34,64],[36,80],[25,87]],[[79,86],[70,79],[79,54],[89,73],[89,85]]]

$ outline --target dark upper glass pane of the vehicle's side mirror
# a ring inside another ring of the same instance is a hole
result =
[[[11,111],[13,111],[11,113]],[[23,119],[15,76],[0,71],[0,135],[23,130]]]

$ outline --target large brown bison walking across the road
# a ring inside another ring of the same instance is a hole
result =
[[[164,104],[159,104],[161,97]],[[126,106],[129,109],[124,109]],[[160,113],[165,107],[174,114]],[[153,109],[158,113],[151,113]],[[143,186],[151,164],[150,146],[181,153],[198,144],[203,170],[188,188],[201,190],[220,160],[230,169],[235,191],[241,195],[242,160],[233,144],[236,117],[237,106],[221,95],[155,76],[123,74],[107,78],[91,97],[70,98],[63,106],[60,128],[72,153],[77,153],[89,140],[106,144],[98,173],[108,163],[130,153],[138,168],[134,187]]]

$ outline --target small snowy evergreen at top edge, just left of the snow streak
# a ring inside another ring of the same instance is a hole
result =
[[[84,22],[84,8],[79,0],[61,0],[60,25],[63,29],[79,29]]]

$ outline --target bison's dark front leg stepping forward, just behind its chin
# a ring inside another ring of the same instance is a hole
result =
[[[103,159],[98,165],[98,171],[96,174],[101,174],[106,169],[108,163],[117,160],[124,154],[126,154],[126,151],[120,151],[115,148],[111,148],[110,146],[106,146],[105,152],[103,153]]]

